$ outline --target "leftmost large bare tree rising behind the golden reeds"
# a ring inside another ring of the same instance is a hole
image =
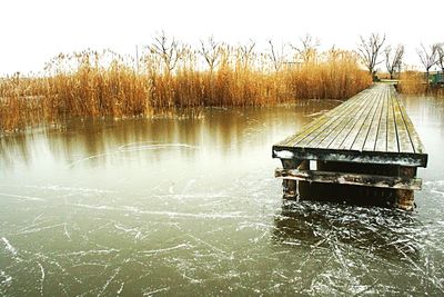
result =
[[[154,37],[154,42],[149,47],[151,52],[158,55],[164,65],[164,70],[170,73],[178,65],[183,51],[180,48],[179,41],[172,38],[171,40],[162,31]]]

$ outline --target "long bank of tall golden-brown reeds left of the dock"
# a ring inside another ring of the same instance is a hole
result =
[[[0,131],[71,117],[150,117],[180,108],[343,99],[371,83],[349,51],[311,51],[289,63],[252,46],[213,46],[206,51],[175,43],[151,47],[138,61],[111,51],[60,55],[42,75],[0,79]]]

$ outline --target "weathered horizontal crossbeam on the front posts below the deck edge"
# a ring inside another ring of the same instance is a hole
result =
[[[422,184],[421,178],[374,176],[374,175],[362,175],[362,174],[345,174],[345,172],[300,170],[300,169],[282,169],[282,168],[278,168],[275,170],[275,177],[290,180],[311,181],[311,182],[356,185],[365,187],[404,189],[404,190],[420,190]]]

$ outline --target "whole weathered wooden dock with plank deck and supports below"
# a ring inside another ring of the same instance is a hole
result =
[[[377,197],[404,209],[413,209],[413,190],[422,184],[417,167],[427,165],[420,136],[393,85],[386,83],[357,93],[274,145],[273,158],[282,161],[275,176],[284,179],[286,197],[357,195],[364,204]]]

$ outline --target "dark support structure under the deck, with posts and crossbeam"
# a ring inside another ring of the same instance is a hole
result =
[[[310,160],[282,160],[275,177],[283,179],[285,198],[414,209],[414,190],[422,185],[414,167],[315,164],[313,169]]]

